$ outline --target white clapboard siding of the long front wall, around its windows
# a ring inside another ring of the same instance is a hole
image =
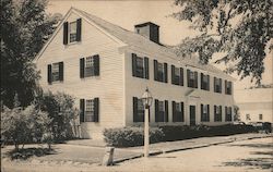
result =
[[[149,58],[149,65],[150,65],[150,79],[144,79],[144,78],[139,78],[139,77],[133,77],[132,76],[132,60],[131,60],[131,53],[136,53],[140,57],[147,57]],[[161,63],[166,62],[168,64],[168,83],[162,83],[162,82],[156,82],[154,81],[154,63],[153,60],[157,60]],[[182,63],[178,63],[178,60],[174,58],[168,58],[165,57],[161,53],[149,53],[144,52],[143,50],[140,49],[128,49],[126,52],[126,61],[124,61],[124,71],[126,71],[126,123],[127,125],[135,124],[133,123],[133,110],[132,110],[132,97],[141,97],[142,94],[144,93],[145,88],[149,87],[151,90],[154,99],[158,100],[168,100],[168,124],[189,124],[189,105],[195,105],[195,116],[197,116],[197,123],[201,124],[201,115],[200,115],[200,105],[205,103],[210,105],[210,119],[211,122],[206,122],[203,124],[207,125],[219,125],[219,124],[226,124],[226,122],[214,122],[214,109],[213,106],[228,106],[233,107],[234,106],[234,98],[230,95],[225,95],[224,91],[222,94],[216,94],[213,90],[213,76],[215,76],[213,73],[210,74],[210,91],[202,90],[201,88],[201,72],[195,67],[191,66],[186,66]],[[183,67],[183,86],[177,86],[171,84],[171,69],[170,65],[174,64],[177,67]],[[197,98],[194,100],[191,100],[188,98],[186,95],[192,90],[193,88],[189,88],[187,86],[187,69],[198,71],[198,96],[200,98]],[[217,75],[217,74],[216,74]],[[173,107],[171,107],[171,101],[183,101],[185,102],[185,122],[181,123],[173,123]],[[193,103],[192,103],[193,102]],[[223,118],[225,119],[225,109],[222,108],[223,112]],[[136,123],[139,124],[139,123]],[[155,123],[155,110],[154,110],[154,101],[151,107],[151,124],[152,125],[157,125],[161,123]],[[164,123],[166,124],[166,123]]]

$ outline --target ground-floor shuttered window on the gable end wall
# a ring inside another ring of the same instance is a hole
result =
[[[80,122],[98,122],[98,98],[80,99]]]

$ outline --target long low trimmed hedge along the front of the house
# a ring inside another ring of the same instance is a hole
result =
[[[233,134],[258,132],[257,127],[251,125],[164,125],[150,127],[150,143],[182,140],[198,137],[228,136]],[[105,142],[109,146],[132,147],[142,146],[144,139],[143,127],[117,127],[106,128],[104,131]]]

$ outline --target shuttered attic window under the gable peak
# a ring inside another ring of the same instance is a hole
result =
[[[82,20],[63,23],[63,45],[68,42],[81,41],[82,38]]]

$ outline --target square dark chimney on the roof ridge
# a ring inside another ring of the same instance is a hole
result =
[[[159,44],[159,26],[152,22],[134,25],[134,32],[156,44]]]

